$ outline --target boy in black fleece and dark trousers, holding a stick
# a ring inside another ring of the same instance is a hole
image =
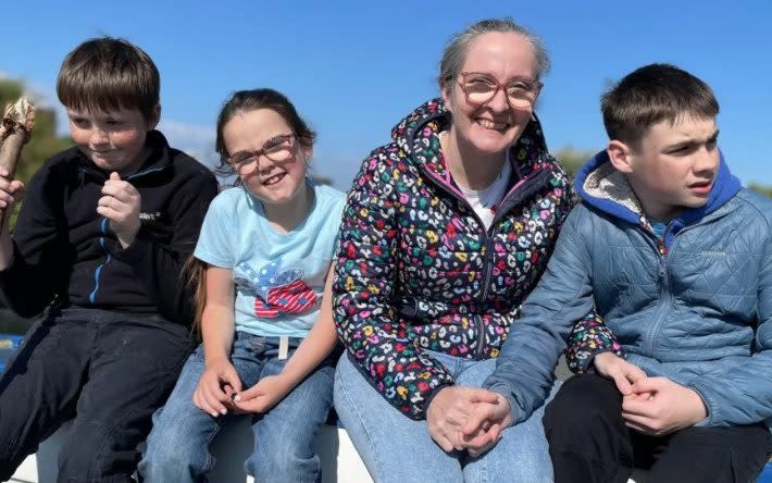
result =
[[[14,230],[0,233],[0,296],[45,317],[0,377],[0,481],[75,418],[59,481],[130,481],[136,446],[191,347],[183,267],[212,173],[170,148],[159,73],[121,39],[88,40],[59,73],[76,147],[29,183]],[[24,186],[0,172],[7,215]]]

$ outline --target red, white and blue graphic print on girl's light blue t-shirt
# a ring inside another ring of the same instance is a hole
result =
[[[316,294],[303,282],[301,269],[286,269],[283,258],[254,270],[249,263],[239,263],[238,269],[246,277],[236,277],[241,287],[256,292],[254,314],[274,318],[290,313],[302,313],[316,305]]]

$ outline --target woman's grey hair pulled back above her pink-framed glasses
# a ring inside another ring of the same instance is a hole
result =
[[[536,63],[536,79],[549,72],[549,54],[547,49],[541,44],[541,40],[530,29],[518,25],[510,17],[505,18],[486,18],[470,26],[463,32],[450,36],[445,45],[443,58],[439,61],[439,87],[443,88],[445,83],[455,78],[461,72],[464,61],[466,60],[466,51],[469,50],[472,40],[483,34],[498,32],[502,34],[513,33],[524,37],[531,42],[534,48],[534,60]]]

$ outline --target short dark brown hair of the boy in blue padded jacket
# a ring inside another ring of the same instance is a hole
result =
[[[649,64],[625,75],[600,99],[609,139],[634,150],[648,129],[662,121],[675,123],[684,115],[715,117],[719,101],[699,78],[670,64]]]

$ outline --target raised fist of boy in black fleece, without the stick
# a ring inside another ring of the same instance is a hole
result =
[[[127,248],[139,232],[139,191],[112,172],[102,186],[102,195],[97,203],[97,213],[110,220],[110,228],[121,246]]]

